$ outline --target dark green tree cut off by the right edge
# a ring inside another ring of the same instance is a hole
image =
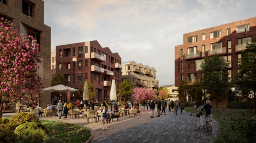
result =
[[[238,61],[238,73],[236,84],[241,86],[243,95],[251,96],[254,99],[254,113],[256,113],[256,40],[246,43],[242,58]]]

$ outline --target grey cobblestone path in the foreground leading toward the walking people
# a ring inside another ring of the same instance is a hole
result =
[[[219,125],[212,120],[213,131],[206,136],[203,129],[195,130],[196,116],[191,112],[178,111],[178,115],[167,111],[166,115],[156,117],[153,121],[136,125],[118,131],[109,136],[102,137],[92,142],[213,142],[217,137]],[[147,116],[147,118],[149,118]]]

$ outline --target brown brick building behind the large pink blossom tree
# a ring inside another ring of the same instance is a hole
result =
[[[37,56],[42,61],[37,64],[40,67],[38,75],[42,78],[43,86],[50,87],[51,28],[44,24],[44,1],[0,0],[0,17],[10,20],[18,34],[24,33],[37,39],[40,45]],[[39,106],[46,107],[50,102],[50,92],[42,91],[37,100]]]

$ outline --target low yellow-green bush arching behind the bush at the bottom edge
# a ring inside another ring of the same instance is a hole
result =
[[[18,127],[16,127],[14,133],[16,133],[19,136],[20,133],[25,129],[42,129],[43,131],[45,131],[45,133],[49,133],[49,130],[43,124],[38,124],[35,122],[28,122],[19,125]]]

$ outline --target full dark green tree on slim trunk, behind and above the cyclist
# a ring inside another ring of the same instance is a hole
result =
[[[221,55],[214,55],[205,58],[199,70],[202,74],[202,85],[205,86],[212,99],[216,100],[217,112],[218,100],[225,98],[231,87],[228,66],[229,62]]]

